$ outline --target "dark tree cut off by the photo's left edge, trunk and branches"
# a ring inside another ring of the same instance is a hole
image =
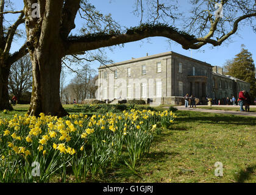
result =
[[[8,94],[10,67],[28,52],[26,44],[23,44],[18,51],[10,52],[15,38],[22,37],[18,27],[25,21],[24,11],[16,11],[12,7],[12,1],[0,0],[0,110],[13,110],[12,105],[9,104]],[[19,14],[19,16],[14,21],[7,21],[5,18],[7,14]]]

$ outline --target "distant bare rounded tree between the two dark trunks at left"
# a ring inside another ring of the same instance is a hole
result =
[[[32,91],[32,63],[29,55],[13,63],[9,75],[9,91],[18,100],[24,93]]]

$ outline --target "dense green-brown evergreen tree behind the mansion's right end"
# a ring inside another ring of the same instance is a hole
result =
[[[241,47],[241,52],[235,56],[234,59],[229,60],[227,65],[224,66],[227,74],[250,83],[250,92],[253,97],[256,97],[255,65],[251,52],[244,49],[243,46]]]

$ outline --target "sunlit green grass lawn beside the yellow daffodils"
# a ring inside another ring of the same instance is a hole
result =
[[[26,113],[28,105],[0,117]],[[64,105],[68,112],[82,108]],[[156,109],[163,110],[162,107]],[[256,182],[256,118],[178,111],[169,129],[154,137],[150,152],[137,165],[137,175],[122,165],[88,182]],[[215,176],[215,163],[223,177]],[[67,177],[69,182],[73,176]],[[52,182],[59,182],[58,176]]]

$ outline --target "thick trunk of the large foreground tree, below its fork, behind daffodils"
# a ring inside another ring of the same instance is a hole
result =
[[[62,56],[53,45],[51,48],[47,50],[37,48],[30,52],[33,87],[29,115],[38,116],[40,113],[59,117],[68,115],[60,101]]]

